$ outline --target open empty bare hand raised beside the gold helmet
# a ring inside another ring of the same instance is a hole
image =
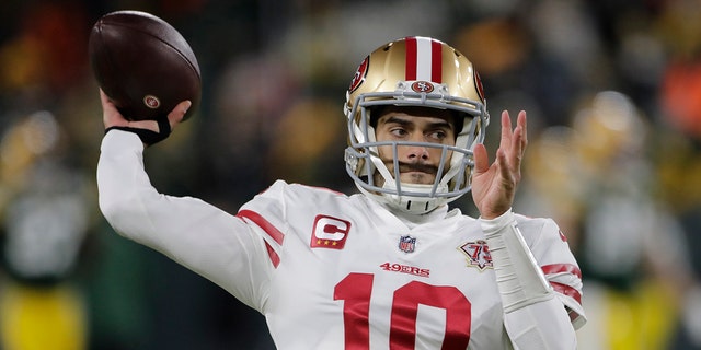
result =
[[[508,112],[504,110],[502,140],[494,163],[490,164],[484,144],[475,147],[472,199],[480,210],[480,217],[497,218],[514,203],[516,188],[521,179],[521,160],[527,144],[526,112],[519,112],[516,128],[512,130],[510,117]]]

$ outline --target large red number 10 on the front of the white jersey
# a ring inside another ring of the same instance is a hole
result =
[[[334,300],[343,300],[346,350],[370,349],[371,273],[349,273],[334,289]],[[457,288],[411,281],[394,291],[390,320],[390,349],[413,350],[418,305],[446,311],[446,330],[440,349],[467,349],[470,341],[471,304]]]

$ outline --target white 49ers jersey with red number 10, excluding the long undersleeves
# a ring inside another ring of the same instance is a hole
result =
[[[280,348],[509,348],[480,223],[458,209],[407,224],[364,195],[276,182],[238,217],[268,247],[261,311]],[[554,222],[518,224],[553,288],[582,313],[579,270]]]

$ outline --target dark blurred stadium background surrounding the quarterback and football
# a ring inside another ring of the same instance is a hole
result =
[[[203,73],[197,114],[146,154],[159,190],[232,213],[276,178],[353,192],[357,65],[434,36],[482,75],[491,152],[501,110],[529,113],[515,207],[578,258],[579,348],[701,349],[701,1],[3,0],[0,350],[273,349],[261,315],[97,210],[87,40],[126,9],[174,25]]]

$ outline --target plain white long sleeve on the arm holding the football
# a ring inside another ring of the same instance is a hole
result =
[[[137,136],[105,135],[99,202],[114,230],[149,246],[261,310],[273,267],[264,241],[244,220],[192,197],[159,194],[143,170]]]

